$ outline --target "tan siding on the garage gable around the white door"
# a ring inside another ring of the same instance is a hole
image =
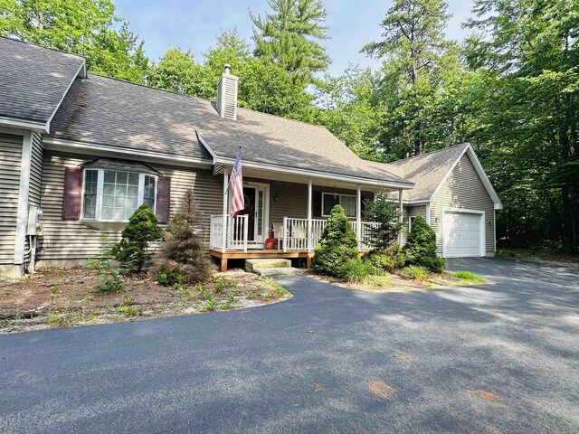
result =
[[[437,252],[442,254],[442,208],[464,208],[485,212],[485,246],[487,255],[495,251],[494,203],[480,181],[470,157],[465,154],[436,193],[431,205],[431,226],[436,232]],[[489,225],[492,222],[492,226]]]

